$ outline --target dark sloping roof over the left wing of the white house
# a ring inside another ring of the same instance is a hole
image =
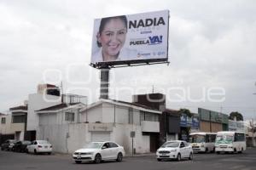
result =
[[[62,103],[62,104],[46,107],[46,108],[38,110],[36,112],[37,113],[57,112],[57,111],[60,111],[60,110],[63,110],[63,109],[73,108],[73,107],[76,107],[78,105],[84,105],[84,104],[82,104],[82,103],[73,103],[73,104]]]

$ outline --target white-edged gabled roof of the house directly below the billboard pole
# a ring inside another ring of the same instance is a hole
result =
[[[161,111],[155,110],[155,109],[150,108],[146,105],[139,105],[139,104],[130,103],[130,102],[126,102],[126,101],[115,100],[115,99],[100,99],[96,103],[93,103],[93,104],[85,107],[81,111],[89,110],[90,108],[93,108],[96,105],[102,105],[102,103],[108,103],[108,104],[112,104],[112,105],[120,105],[120,106],[131,107],[133,109],[137,109],[137,110],[140,110],[140,111],[148,111],[148,112],[153,112],[153,113],[158,113],[158,114],[162,113]]]

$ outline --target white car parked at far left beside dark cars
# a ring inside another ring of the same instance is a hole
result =
[[[34,140],[32,144],[26,146],[27,153],[48,153],[49,155],[52,152],[52,144],[49,144],[47,140]]]

